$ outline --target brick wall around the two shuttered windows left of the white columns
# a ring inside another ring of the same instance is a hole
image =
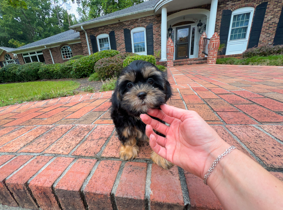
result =
[[[115,31],[115,38],[116,38],[116,46],[117,50],[120,53],[125,52],[125,42],[124,42],[124,30],[123,29],[131,29],[138,25],[148,25],[152,23],[153,25],[153,44],[154,44],[154,51],[159,51],[161,49],[161,15],[152,15],[142,18],[137,18],[129,21],[123,21],[119,23],[114,23],[110,25],[104,25],[92,29],[86,29],[87,36],[89,38],[90,43],[90,51],[92,53],[92,46],[90,42],[90,35],[97,35],[101,31],[110,32]],[[88,54],[87,43],[85,39],[85,33],[80,32],[81,36],[81,44],[83,47],[83,52]]]

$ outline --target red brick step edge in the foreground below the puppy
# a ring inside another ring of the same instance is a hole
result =
[[[2,205],[27,209],[223,209],[202,179],[174,166],[72,157],[0,156]],[[87,207],[87,208],[86,208]]]

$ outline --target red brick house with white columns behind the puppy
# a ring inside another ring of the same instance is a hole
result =
[[[280,0],[151,0],[71,26],[76,31],[72,32],[76,38],[71,41],[46,42],[48,49],[44,49],[44,44],[39,46],[39,42],[59,39],[64,33],[71,33],[70,30],[12,52],[18,54],[22,64],[26,62],[25,54],[35,52],[38,47],[45,63],[50,64],[51,55],[53,63],[62,63],[71,56],[64,57],[70,52],[90,55],[115,49],[153,55],[161,50],[160,64],[166,65],[170,36],[173,42],[170,44],[174,46],[170,60],[174,65],[206,63],[207,55],[212,52],[209,47],[214,46],[213,53],[218,50],[219,44],[209,44],[215,33],[213,42],[220,40],[225,44],[218,57],[241,57],[247,48],[283,44],[282,7]]]

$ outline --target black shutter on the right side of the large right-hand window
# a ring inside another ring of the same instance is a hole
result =
[[[249,40],[249,44],[247,47],[248,49],[258,46],[258,41],[259,41],[261,29],[262,29],[265,11],[267,8],[267,3],[268,2],[261,3],[260,5],[256,7],[250,40]]]

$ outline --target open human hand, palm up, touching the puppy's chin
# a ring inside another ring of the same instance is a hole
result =
[[[146,135],[152,150],[168,161],[203,179],[207,170],[218,155],[229,147],[195,111],[161,105],[161,110],[153,109],[148,113],[168,124],[167,126],[141,114],[147,124]],[[163,133],[161,137],[153,132]]]

